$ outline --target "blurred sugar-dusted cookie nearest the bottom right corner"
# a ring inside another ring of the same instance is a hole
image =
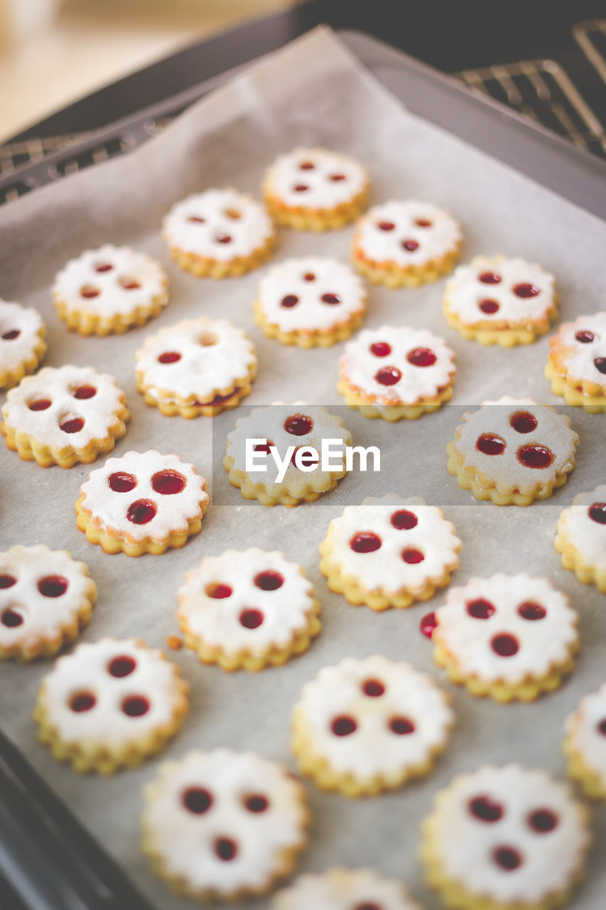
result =
[[[550,910],[584,873],[588,813],[567,784],[517,764],[460,774],[421,834],[430,888],[449,907]]]

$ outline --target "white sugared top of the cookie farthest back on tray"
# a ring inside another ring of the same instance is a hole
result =
[[[326,148],[295,148],[276,158],[263,188],[289,207],[335,208],[351,202],[369,184],[365,167]]]

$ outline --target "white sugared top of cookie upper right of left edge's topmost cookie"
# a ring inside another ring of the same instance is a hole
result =
[[[158,298],[166,306],[167,274],[146,253],[106,243],[70,259],[56,275],[53,296],[69,311],[122,316]]]

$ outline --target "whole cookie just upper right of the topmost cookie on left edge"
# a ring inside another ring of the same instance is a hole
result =
[[[81,335],[142,326],[168,303],[164,268],[140,250],[106,244],[70,259],[55,278],[56,311]]]

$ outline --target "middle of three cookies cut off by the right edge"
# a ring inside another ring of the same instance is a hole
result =
[[[606,484],[574,497],[561,512],[553,542],[564,569],[606,594]]]

